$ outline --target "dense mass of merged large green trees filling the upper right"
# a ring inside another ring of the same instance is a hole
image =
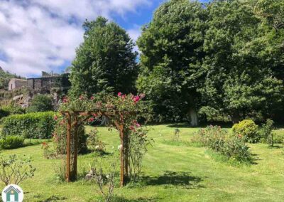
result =
[[[171,0],[138,39],[139,92],[155,119],[281,119],[284,1]]]

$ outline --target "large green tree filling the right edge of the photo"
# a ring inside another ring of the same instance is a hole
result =
[[[246,117],[271,117],[280,110],[284,35],[280,26],[275,28],[273,20],[268,20],[274,14],[268,18],[263,13],[275,2],[208,4],[206,56],[199,70],[204,79],[197,87],[202,95],[201,112],[207,117],[221,113],[238,122]]]

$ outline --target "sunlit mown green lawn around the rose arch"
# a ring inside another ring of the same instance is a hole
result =
[[[176,126],[149,127],[153,147],[143,161],[141,184],[116,188],[120,201],[283,201],[284,155],[282,145],[268,148],[266,144],[250,144],[254,154],[251,165],[233,165],[218,160],[203,147],[171,144]],[[180,125],[182,141],[189,141],[198,128]],[[91,127],[87,127],[87,130]],[[107,151],[117,148],[115,131],[99,127]],[[278,130],[278,133],[284,130]],[[84,181],[65,183],[56,179],[55,169],[60,160],[44,159],[41,145],[7,150],[6,154],[26,154],[33,158],[37,169],[33,179],[23,181],[24,201],[97,201],[97,186]],[[80,176],[84,176],[95,154],[79,158]],[[108,155],[99,158],[109,158]],[[1,184],[0,188],[4,188]]]

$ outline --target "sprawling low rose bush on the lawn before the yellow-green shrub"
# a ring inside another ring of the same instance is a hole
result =
[[[251,153],[249,147],[245,144],[244,137],[229,135],[225,129],[218,126],[200,129],[192,137],[191,142],[201,144],[229,159],[236,159],[236,161],[249,161],[251,159]]]

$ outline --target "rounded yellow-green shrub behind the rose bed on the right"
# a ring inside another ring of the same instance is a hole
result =
[[[234,124],[232,129],[234,134],[244,136],[246,142],[256,143],[261,139],[261,135],[258,132],[258,125],[251,119],[244,119],[239,124]]]

